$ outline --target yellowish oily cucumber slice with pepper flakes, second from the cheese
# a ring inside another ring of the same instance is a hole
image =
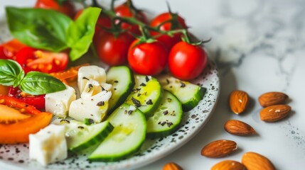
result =
[[[159,106],[163,89],[159,81],[151,76],[135,75],[134,89],[125,103],[139,108],[146,117],[151,116]]]

